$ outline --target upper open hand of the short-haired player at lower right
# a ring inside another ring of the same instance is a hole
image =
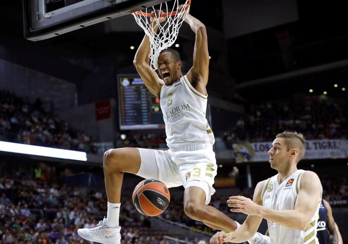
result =
[[[247,215],[258,215],[259,213],[260,205],[254,203],[250,198],[234,196],[230,197],[227,203],[229,207],[237,207],[231,208],[231,212],[244,213]]]

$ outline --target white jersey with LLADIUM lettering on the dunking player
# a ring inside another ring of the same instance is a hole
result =
[[[205,117],[207,97],[193,88],[186,76],[172,85],[163,85],[160,105],[171,151],[195,151],[214,144],[214,134]]]

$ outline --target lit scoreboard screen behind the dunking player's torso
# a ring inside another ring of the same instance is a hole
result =
[[[120,130],[165,128],[159,99],[140,76],[120,75],[117,80]]]

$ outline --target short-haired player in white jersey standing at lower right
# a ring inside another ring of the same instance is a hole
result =
[[[312,171],[297,169],[305,151],[305,139],[297,132],[276,136],[268,151],[271,168],[278,174],[256,185],[253,200],[235,196],[227,202],[231,212],[248,214],[237,230],[217,232],[210,243],[241,243],[250,239],[267,220],[272,244],[318,244],[317,222],[322,185]]]

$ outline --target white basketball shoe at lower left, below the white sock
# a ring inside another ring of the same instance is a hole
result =
[[[99,221],[97,227],[88,229],[78,229],[77,233],[87,241],[99,242],[102,244],[120,244],[121,243],[121,227],[111,228],[107,226],[106,218]]]

